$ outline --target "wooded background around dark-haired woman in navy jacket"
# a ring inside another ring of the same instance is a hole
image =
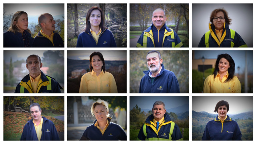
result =
[[[67,47],[76,47],[77,37],[86,27],[87,11],[99,7],[105,24],[114,35],[117,47],[127,47],[127,4],[67,4]]]

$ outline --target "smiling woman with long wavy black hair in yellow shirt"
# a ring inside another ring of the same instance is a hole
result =
[[[241,83],[234,75],[235,62],[229,54],[220,54],[212,75],[204,82],[203,93],[241,93]]]

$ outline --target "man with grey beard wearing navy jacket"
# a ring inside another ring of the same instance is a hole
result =
[[[149,51],[147,54],[148,71],[141,79],[139,93],[180,93],[180,87],[175,74],[166,70],[159,51]]]

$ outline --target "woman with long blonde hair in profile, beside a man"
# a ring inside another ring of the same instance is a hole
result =
[[[4,47],[31,47],[34,38],[28,29],[28,14],[24,11],[17,11],[11,25],[4,33]]]

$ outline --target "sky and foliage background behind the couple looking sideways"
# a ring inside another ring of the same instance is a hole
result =
[[[64,4],[4,4],[4,32],[10,27],[12,16],[17,11],[28,14],[28,29],[31,31],[31,37],[35,37],[41,30],[38,16],[43,13],[51,14],[56,23],[55,31],[64,43]]]

